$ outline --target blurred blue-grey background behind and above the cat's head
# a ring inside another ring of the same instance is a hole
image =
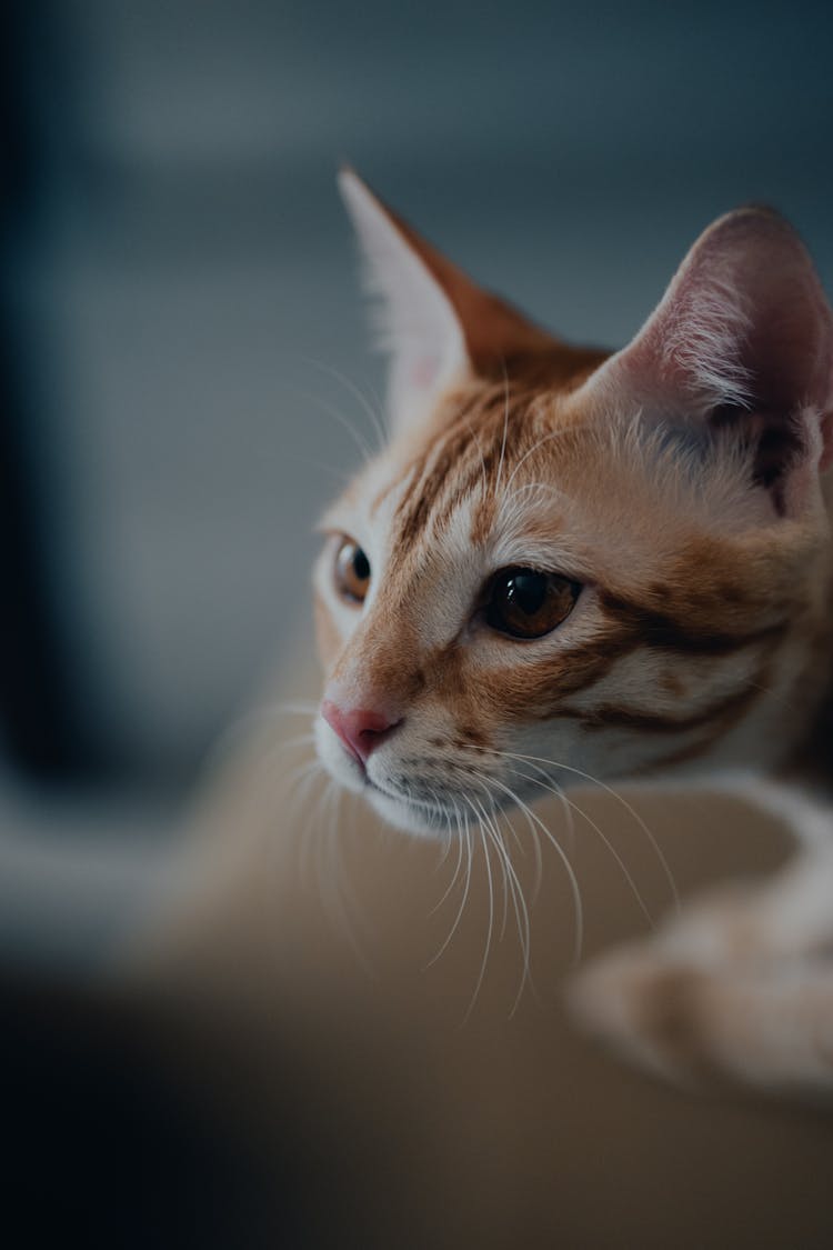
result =
[[[0,22],[0,969],[17,976],[106,958],[212,745],[308,632],[312,526],[383,388],[338,161],[577,341],[626,341],[744,201],[793,220],[831,291],[833,18],[7,0]]]

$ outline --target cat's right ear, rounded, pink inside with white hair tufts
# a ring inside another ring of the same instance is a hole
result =
[[[716,221],[588,385],[659,419],[736,429],[788,511],[791,479],[833,460],[833,315],[792,226],[758,208]]]

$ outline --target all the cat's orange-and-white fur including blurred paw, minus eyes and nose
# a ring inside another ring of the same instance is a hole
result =
[[[752,770],[796,861],[603,956],[572,1006],[664,1076],[832,1092],[833,314],[807,252],[776,214],[721,219],[607,355],[481,292],[355,180],[348,199],[371,261],[393,256],[398,406],[325,520],[318,636],[326,699],[393,728],[360,764],[318,719],[321,758],[427,832],[591,779]],[[361,608],[333,586],[338,535],[371,561]],[[583,588],[533,640],[483,611],[517,566]]]

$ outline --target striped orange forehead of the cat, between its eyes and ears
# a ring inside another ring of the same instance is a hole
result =
[[[746,472],[642,411],[492,386],[452,395],[416,436],[393,440],[331,528],[391,571],[530,564],[633,584],[692,536],[759,520]]]

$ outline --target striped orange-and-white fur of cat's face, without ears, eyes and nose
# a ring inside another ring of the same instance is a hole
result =
[[[523,792],[501,751],[599,779],[774,765],[788,751],[804,722],[784,706],[826,632],[826,545],[809,522],[762,524],[742,458],[709,452],[694,472],[686,455],[638,420],[599,425],[569,396],[482,384],[331,510],[326,528],[373,566],[358,611],[337,601],[331,546],[321,558],[331,689],[403,718],[371,779],[440,798],[426,814],[371,792],[386,815],[443,824],[466,778],[471,798],[482,779],[496,801],[500,785]],[[535,642],[476,621],[490,575],[517,564],[584,585]],[[325,760],[355,782],[320,732]],[[569,784],[563,769],[551,776]]]

